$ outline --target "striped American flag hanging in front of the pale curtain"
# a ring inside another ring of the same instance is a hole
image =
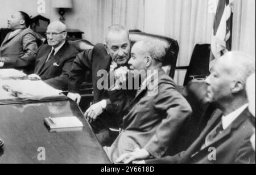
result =
[[[211,42],[210,67],[214,59],[231,50],[234,0],[218,0]]]

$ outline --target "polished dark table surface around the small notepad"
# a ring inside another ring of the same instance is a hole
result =
[[[69,116],[82,121],[82,131],[50,133],[43,122]],[[68,100],[0,104],[0,138],[5,141],[0,163],[110,163],[80,108]],[[38,159],[40,147],[46,160]]]

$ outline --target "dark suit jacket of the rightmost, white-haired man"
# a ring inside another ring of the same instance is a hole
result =
[[[221,121],[221,117],[222,113],[217,110],[199,138],[187,151],[162,159],[146,160],[146,163],[255,163],[255,152],[250,143],[250,137],[253,134],[253,125],[250,119],[253,116],[248,109],[245,109],[226,130],[222,131],[212,144],[201,150],[206,136]],[[216,149],[215,161],[208,159],[212,153],[211,148]]]

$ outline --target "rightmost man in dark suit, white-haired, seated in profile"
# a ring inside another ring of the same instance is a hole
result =
[[[145,163],[255,163],[250,144],[255,118],[248,110],[245,90],[246,79],[255,72],[255,60],[229,52],[216,59],[210,72],[205,80],[207,96],[218,109],[199,138],[187,151]]]

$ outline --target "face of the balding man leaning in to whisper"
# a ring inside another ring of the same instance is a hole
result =
[[[130,41],[127,33],[125,31],[117,33],[110,32],[106,42],[106,49],[112,60],[118,65],[127,63],[130,54]]]

